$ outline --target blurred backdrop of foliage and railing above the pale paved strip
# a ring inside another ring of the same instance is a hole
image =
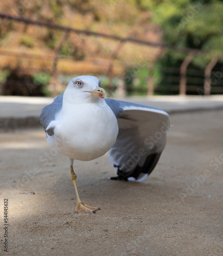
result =
[[[0,94],[55,96],[94,75],[110,97],[223,93],[223,1],[0,3]]]

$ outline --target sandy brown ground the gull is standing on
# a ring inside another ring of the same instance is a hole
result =
[[[43,161],[54,152],[42,129],[2,132],[0,254],[223,255],[222,120],[223,111],[172,115],[165,151],[142,183],[107,180],[108,155],[75,162],[80,197],[96,214],[75,214],[69,163],[60,154]]]

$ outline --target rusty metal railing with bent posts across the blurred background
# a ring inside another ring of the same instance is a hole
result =
[[[28,19],[28,18],[24,18],[24,17],[20,17],[20,16],[15,17],[15,16],[4,14],[4,13],[0,13],[0,18],[2,18],[5,21],[7,20],[7,23],[9,23],[9,20],[10,20],[10,22],[14,21],[14,22],[20,22],[20,23],[25,23],[25,24],[34,25],[34,26],[47,27],[50,29],[61,30],[64,32],[62,37],[60,38],[57,46],[55,47],[55,49],[53,51],[49,51],[47,54],[45,54],[45,53],[44,54],[18,53],[18,52],[13,52],[10,50],[0,48],[0,55],[9,55],[9,56],[15,56],[15,57],[35,58],[35,59],[37,58],[37,59],[42,59],[42,60],[46,60],[46,61],[52,61],[53,65],[52,65],[52,70],[51,70],[51,76],[52,76],[51,82],[54,84],[54,88],[55,88],[54,95],[56,94],[56,83],[57,83],[57,77],[58,77],[58,61],[60,59],[59,51],[61,50],[61,48],[64,45],[64,43],[66,42],[66,40],[68,40],[70,33],[84,34],[87,36],[103,37],[103,38],[108,38],[110,40],[118,41],[118,45],[117,45],[116,49],[114,50],[114,52],[110,54],[109,59],[103,60],[104,61],[103,65],[105,65],[106,69],[107,69],[106,74],[108,76],[108,89],[112,89],[112,81],[113,81],[113,77],[114,77],[114,67],[115,67],[115,65],[117,65],[116,56],[118,55],[118,53],[120,52],[120,50],[122,49],[124,44],[126,44],[126,42],[131,42],[133,44],[145,45],[145,46],[161,49],[160,54],[158,54],[154,59],[152,59],[150,62],[148,62],[148,66],[147,66],[147,68],[149,70],[149,76],[147,77],[147,94],[148,95],[153,95],[153,93],[154,93],[155,63],[159,59],[160,55],[162,55],[166,50],[169,50],[169,49],[174,50],[174,51],[184,52],[184,53],[187,53],[188,55],[185,58],[185,60],[181,63],[181,66],[179,68],[174,68],[174,67],[172,67],[172,68],[166,67],[165,68],[166,69],[165,72],[167,72],[167,73],[168,73],[168,70],[169,70],[169,73],[176,73],[176,76],[172,75],[171,77],[166,78],[167,80],[170,79],[170,82],[173,82],[173,84],[171,84],[171,86],[166,87],[166,85],[165,85],[166,89],[168,89],[170,91],[177,90],[177,91],[179,91],[180,95],[186,95],[188,90],[198,91],[197,89],[199,89],[199,90],[203,91],[204,95],[209,95],[209,94],[211,94],[211,90],[213,91],[213,89],[211,88],[211,84],[213,84],[212,70],[221,56],[218,57],[216,55],[211,54],[210,52],[197,50],[197,49],[191,49],[191,48],[170,46],[170,45],[161,44],[159,42],[145,41],[145,40],[140,40],[140,39],[132,38],[132,37],[120,37],[117,35],[109,35],[109,34],[94,32],[94,31],[90,31],[90,30],[80,30],[80,29],[75,29],[75,28],[71,28],[71,27],[65,27],[65,26],[61,26],[61,25],[41,22],[39,20],[32,20],[32,19]],[[201,74],[202,71],[196,71],[197,73],[199,73],[198,77],[190,77],[189,76],[191,70],[190,71],[188,70],[188,66],[197,54],[212,56],[211,61],[208,63],[208,65],[206,66],[206,68],[204,70],[204,74],[203,74],[204,78],[202,78],[202,74]],[[72,59],[73,61],[78,61],[78,59],[74,59],[69,56],[68,56],[68,58]],[[85,61],[93,61],[93,62],[97,63],[97,59],[96,60],[94,60],[94,59],[85,60]],[[126,69],[124,63],[119,62],[119,65],[123,66],[123,68]],[[0,68],[2,68],[2,67],[0,67]],[[33,69],[33,68],[27,67],[27,69]],[[173,72],[173,70],[174,70],[174,72]],[[218,83],[217,84],[218,87],[214,88],[214,91],[217,93],[222,93],[222,88],[221,88],[222,82],[221,81],[222,81],[222,77],[218,77],[217,82],[216,82],[216,83]],[[177,85],[175,83],[179,83],[179,85]],[[195,85],[191,85],[191,83],[194,83]],[[177,87],[178,87],[178,89],[177,89]],[[200,89],[202,87],[203,87],[203,89]],[[162,90],[162,88],[164,88],[164,86],[162,84],[160,84],[160,86],[158,88],[155,88],[155,90],[160,91],[160,90]]]

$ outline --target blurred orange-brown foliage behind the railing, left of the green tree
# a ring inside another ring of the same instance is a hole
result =
[[[0,3],[0,10],[13,16],[80,30],[162,42],[160,26],[151,23],[151,10],[144,8],[136,0],[49,0],[44,3],[8,0]],[[25,25],[7,18],[0,19],[0,47],[4,50],[13,50],[18,55],[21,52],[39,55],[44,51],[44,54],[50,56],[62,36],[63,32],[59,30]],[[58,72],[63,75],[107,74],[111,56],[118,44],[116,40],[71,33],[59,51]],[[149,60],[157,52],[159,52],[158,48],[126,43],[112,59],[114,68],[110,73],[112,76],[123,77],[125,67],[127,67],[133,72],[132,76],[135,79],[138,73],[139,76],[143,73],[140,72],[141,66],[147,68]],[[75,61],[70,57],[73,57]],[[32,69],[32,74],[38,71],[52,74],[50,58],[49,61],[43,61],[41,58],[36,58],[34,61],[31,58],[23,58],[23,56],[14,59],[12,56],[1,56],[2,67],[13,70],[16,63],[24,69]],[[134,66],[138,67],[137,71],[132,69]]]

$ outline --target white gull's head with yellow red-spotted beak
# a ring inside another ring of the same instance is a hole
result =
[[[63,97],[66,100],[84,100],[97,97],[106,98],[105,90],[100,87],[100,80],[95,76],[77,76],[66,87]],[[78,101],[79,101],[78,100]]]

